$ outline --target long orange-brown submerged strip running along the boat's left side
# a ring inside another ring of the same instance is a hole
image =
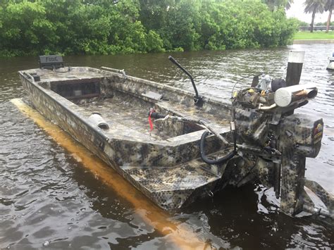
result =
[[[39,127],[42,127],[55,142],[73,154],[73,158],[80,161],[95,177],[111,187],[113,192],[130,202],[142,220],[153,226],[161,235],[164,235],[167,241],[172,242],[180,249],[211,249],[210,244],[198,239],[194,232],[180,225],[177,221],[171,220],[166,211],[149,201],[144,194],[132,187],[128,181],[101,161],[100,158],[94,156],[82,144],[76,142],[67,132],[44,118],[43,115],[25,104],[21,99],[12,99],[11,102]]]

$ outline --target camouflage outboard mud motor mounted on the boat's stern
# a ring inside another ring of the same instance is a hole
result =
[[[291,67],[295,65],[292,63],[290,70]],[[301,73],[301,68],[297,71]],[[287,75],[287,79],[289,77]],[[295,83],[298,84],[299,78],[300,74]],[[317,213],[333,223],[333,198],[316,182],[306,180],[304,175],[306,157],[315,158],[320,151],[323,120],[293,114],[296,108],[316,97],[316,87],[285,87],[284,80],[271,80],[268,75],[262,75],[257,85],[253,81],[252,86],[235,93],[233,109],[240,149],[261,158],[253,172],[263,183],[273,185],[283,213],[290,216],[302,211]],[[262,152],[254,152],[252,146]],[[304,186],[323,201],[328,211],[316,210]]]

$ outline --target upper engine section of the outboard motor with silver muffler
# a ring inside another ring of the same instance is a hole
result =
[[[322,119],[309,120],[293,115],[296,108],[316,97],[316,87],[295,85],[285,87],[283,79],[268,81],[265,75],[259,85],[235,94],[233,109],[239,142],[255,144],[271,151],[275,141],[293,135],[296,144],[312,148],[307,157],[316,157],[321,146]],[[315,134],[316,133],[316,134]]]

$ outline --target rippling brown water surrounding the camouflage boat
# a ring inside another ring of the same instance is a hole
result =
[[[306,51],[301,83],[318,96],[296,113],[320,116],[321,152],[307,159],[307,177],[334,194],[334,73],[326,70],[334,44],[279,49],[172,54],[194,76],[200,94],[229,98],[241,77],[259,72],[285,77],[290,49]],[[66,65],[101,65],[183,89],[190,81],[168,54],[69,56]],[[225,189],[177,214],[161,213],[135,191],[108,185],[72,151],[13,106],[23,97],[18,70],[37,68],[37,58],[0,59],[0,248],[13,249],[333,249],[333,227],[279,213],[273,192],[261,185]],[[250,85],[251,77],[237,88]],[[126,195],[125,195],[126,194]],[[128,195],[128,196],[127,196]],[[162,223],[162,226],[161,226]],[[166,224],[166,228],[164,225]]]

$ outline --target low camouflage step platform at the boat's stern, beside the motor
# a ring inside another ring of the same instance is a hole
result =
[[[227,148],[210,154],[211,158],[221,158],[232,149]],[[212,195],[216,182],[221,179],[225,165],[216,168],[197,158],[173,167],[161,168],[121,166],[128,180],[156,204],[165,209],[181,208],[191,196]]]

